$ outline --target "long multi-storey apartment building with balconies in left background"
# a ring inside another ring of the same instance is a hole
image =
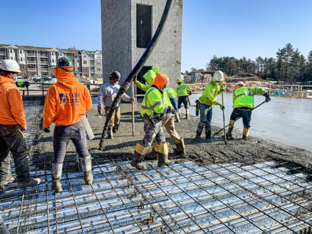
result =
[[[0,44],[0,63],[4,59],[14,59],[20,66],[22,77],[28,75],[53,76],[53,69],[59,57],[72,59],[75,77],[103,78],[102,50],[79,50],[74,47],[68,49],[33,47]]]

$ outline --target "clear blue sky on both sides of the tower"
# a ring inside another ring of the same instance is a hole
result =
[[[311,0],[183,0],[182,67],[217,56],[275,57],[287,43],[312,50]],[[1,2],[0,44],[101,49],[100,0]]]

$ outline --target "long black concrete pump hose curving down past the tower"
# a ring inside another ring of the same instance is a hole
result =
[[[104,124],[103,133],[102,133],[102,137],[101,137],[100,145],[99,145],[99,150],[103,150],[103,148],[104,148],[104,139],[106,137],[108,123],[111,120],[112,114],[113,114],[114,110],[116,109],[117,104],[119,103],[119,100],[120,100],[122,94],[124,94],[129,89],[129,87],[130,87],[131,83],[133,82],[135,76],[140,72],[140,70],[144,66],[146,60],[149,58],[149,56],[153,52],[154,47],[157,44],[158,38],[159,38],[159,36],[163,30],[163,26],[164,26],[166,20],[167,20],[167,16],[168,16],[168,13],[170,10],[171,2],[172,2],[172,0],[167,0],[166,5],[165,5],[164,10],[163,10],[163,13],[162,13],[162,16],[161,16],[161,19],[160,19],[160,22],[158,24],[158,27],[157,27],[156,32],[154,34],[154,37],[152,38],[152,41],[150,42],[149,46],[146,48],[144,54],[140,58],[137,65],[135,65],[135,67],[130,72],[127,79],[120,86],[120,89],[119,89],[115,99],[113,100],[113,102],[111,104],[111,107],[109,109],[109,112],[108,112],[108,115],[106,117],[106,121]]]

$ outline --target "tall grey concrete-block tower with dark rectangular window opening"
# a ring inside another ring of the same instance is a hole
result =
[[[160,21],[166,0],[101,0],[103,82],[119,71],[122,83],[148,47]],[[153,53],[138,80],[152,67],[169,76],[171,87],[181,74],[183,0],[173,0],[168,19]],[[130,94],[131,89],[127,94]],[[144,94],[135,87],[135,94]]]

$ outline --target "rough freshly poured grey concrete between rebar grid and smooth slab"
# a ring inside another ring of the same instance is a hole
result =
[[[88,112],[90,126],[93,129],[95,139],[88,140],[88,148],[91,155],[98,163],[112,158],[127,157],[130,160],[137,142],[140,142],[144,136],[143,118],[139,112],[135,113],[135,136],[132,136],[131,113],[121,115],[120,127],[118,133],[114,134],[114,138],[105,139],[104,151],[98,150],[99,142],[102,135],[105,116],[102,120],[96,110]],[[182,114],[182,118],[184,115]],[[212,116],[213,118],[213,116]],[[243,164],[253,164],[264,161],[275,160],[278,162],[289,162],[285,165],[295,166],[296,163],[311,168],[312,152],[285,145],[275,144],[260,138],[249,137],[249,140],[242,140],[241,132],[234,132],[234,140],[229,140],[227,145],[224,144],[223,131],[215,135],[211,142],[205,139],[205,130],[200,141],[194,141],[199,117],[191,116],[191,119],[181,119],[180,123],[176,123],[176,129],[180,137],[184,138],[187,156],[197,159],[201,163],[226,163],[226,162],[243,162]],[[54,124],[50,127],[50,133],[39,132],[38,140],[33,145],[33,163],[43,167],[44,161],[49,166],[53,158],[53,129]],[[212,135],[220,130],[219,127],[212,126]],[[164,129],[166,140],[171,144],[169,148],[169,156],[176,156],[176,147]],[[250,134],[253,134],[251,128]],[[285,161],[286,160],[286,161]],[[72,170],[75,168],[75,147],[70,141],[67,146],[66,156],[64,160],[64,168]],[[306,169],[302,169],[307,171]],[[307,171],[308,172],[308,171]],[[311,173],[311,172],[309,172]]]

